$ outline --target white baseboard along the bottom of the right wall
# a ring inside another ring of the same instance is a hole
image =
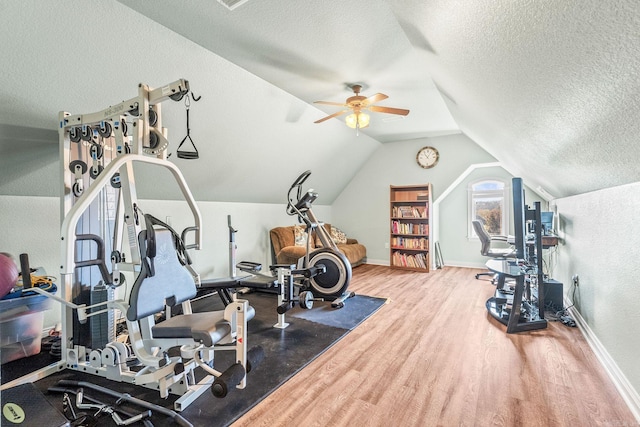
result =
[[[591,347],[593,353],[598,358],[598,361],[600,361],[600,364],[607,372],[607,375],[609,375],[609,378],[611,378],[611,381],[613,381],[613,384],[618,389],[620,396],[622,396],[622,399],[629,407],[629,410],[631,410],[633,416],[636,418],[638,423],[640,423],[640,395],[638,395],[638,392],[633,388],[631,383],[629,383],[627,377],[620,370],[616,362],[611,358],[607,350],[604,348],[598,337],[593,333],[580,312],[576,310],[575,307],[572,307],[571,302],[566,299],[565,305],[569,307],[569,312],[571,313],[573,319],[576,321],[576,325],[582,332],[582,335],[584,335],[587,343],[589,344],[589,347]]]

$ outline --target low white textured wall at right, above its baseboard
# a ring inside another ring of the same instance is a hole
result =
[[[555,200],[555,278],[633,388],[640,390],[640,183]],[[574,274],[579,286],[573,293]],[[574,299],[575,295],[575,299]]]

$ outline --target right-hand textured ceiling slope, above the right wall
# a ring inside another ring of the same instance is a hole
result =
[[[556,197],[638,181],[640,2],[397,4],[462,131],[513,174]]]

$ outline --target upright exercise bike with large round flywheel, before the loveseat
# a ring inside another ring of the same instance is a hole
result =
[[[298,220],[306,226],[307,250],[305,256],[300,259],[298,268],[308,269],[323,266],[324,272],[312,277],[305,277],[302,289],[310,290],[316,297],[331,300],[331,306],[334,308],[342,308],[348,298],[355,296],[355,293],[347,291],[351,281],[351,264],[347,257],[340,252],[324,224],[318,221],[311,210],[311,205],[318,198],[318,193],[312,189],[302,193],[302,184],[309,178],[309,175],[311,175],[311,171],[305,171],[289,188],[287,214],[297,215]],[[292,194],[295,194],[295,198]],[[310,239],[314,231],[323,247],[311,252]]]

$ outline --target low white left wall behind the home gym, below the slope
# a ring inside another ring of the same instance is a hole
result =
[[[0,195],[0,252],[15,256],[29,254],[33,267],[43,267],[47,274],[60,278],[60,201],[57,197]],[[170,217],[171,226],[180,232],[192,225],[186,203],[179,201],[141,200],[145,213],[158,219]],[[203,217],[202,250],[192,251],[193,266],[202,278],[226,277],[229,274],[229,233],[227,215],[231,215],[236,234],[237,260],[254,261],[268,272],[271,264],[269,229],[293,225],[297,219],[285,213],[285,204],[198,202]],[[331,208],[314,206],[315,214],[331,221]],[[58,295],[60,293],[58,292]],[[45,312],[44,329],[60,322],[60,306],[51,305]]]

